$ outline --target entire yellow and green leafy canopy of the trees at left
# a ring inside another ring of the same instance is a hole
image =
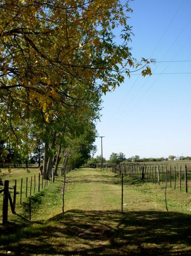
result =
[[[151,75],[154,60],[137,63],[131,54],[129,12],[129,1],[120,0],[1,1],[1,157],[10,143],[28,158],[41,140],[53,166],[56,154],[74,154],[69,138],[80,140],[84,127],[95,126],[102,93],[123,83],[133,68]],[[80,143],[75,154],[89,155],[92,147],[83,146],[84,153]]]

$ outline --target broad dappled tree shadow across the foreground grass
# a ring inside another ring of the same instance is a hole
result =
[[[0,244],[11,255],[187,256],[190,223],[190,215],[175,212],[71,210],[16,232],[14,241],[1,238]]]

